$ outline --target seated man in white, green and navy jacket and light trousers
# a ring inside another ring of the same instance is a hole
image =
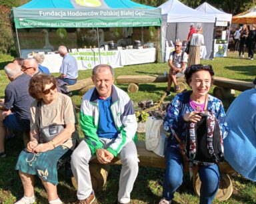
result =
[[[82,99],[80,125],[85,135],[72,154],[71,167],[77,181],[79,203],[93,203],[89,161],[110,163],[114,157],[122,162],[117,203],[130,203],[130,194],[138,173],[137,121],[129,96],[113,85],[113,68],[99,64],[93,68],[95,88]]]

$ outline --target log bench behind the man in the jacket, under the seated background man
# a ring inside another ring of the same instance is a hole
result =
[[[129,93],[136,93],[139,90],[139,84],[147,84],[147,83],[164,83],[167,82],[167,76],[161,74],[157,76],[150,75],[122,75],[117,76],[117,84],[129,84],[127,91]],[[177,84],[179,85],[180,90],[177,92],[183,92],[183,90],[187,89],[187,85],[185,84],[185,78],[180,77],[177,78]]]

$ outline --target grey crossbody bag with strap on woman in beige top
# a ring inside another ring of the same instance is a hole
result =
[[[41,101],[37,102],[37,112],[38,112],[38,120],[39,120],[38,124],[40,129],[40,142],[46,143],[53,140],[53,138],[55,138],[65,128],[65,126],[59,125],[59,124],[51,124],[45,128],[42,128],[40,110],[41,110]]]

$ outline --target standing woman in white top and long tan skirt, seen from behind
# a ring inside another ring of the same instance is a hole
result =
[[[199,26],[197,27],[197,33],[193,33],[191,36],[187,66],[200,64],[200,47],[205,44],[202,33],[203,27]]]

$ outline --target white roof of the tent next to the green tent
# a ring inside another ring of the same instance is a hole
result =
[[[167,23],[215,23],[215,15],[191,9],[178,0],[166,1],[159,8],[162,9],[163,20],[167,19]]]

